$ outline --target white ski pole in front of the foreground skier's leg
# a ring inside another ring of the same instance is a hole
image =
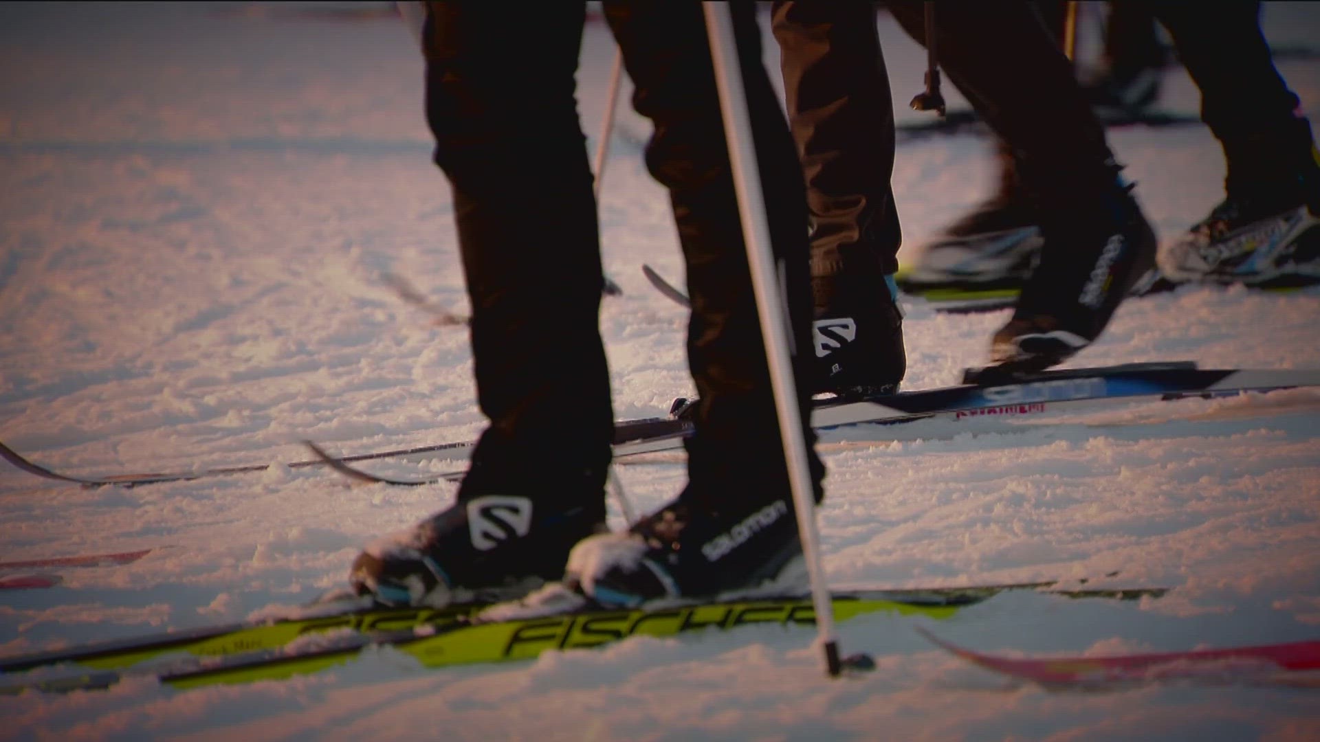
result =
[[[807,573],[812,586],[812,602],[816,607],[816,628],[825,650],[826,671],[830,676],[837,676],[842,669],[842,663],[840,661],[838,640],[834,636],[834,606],[830,602],[825,574],[821,569],[816,503],[807,463],[807,441],[803,437],[793,367],[788,355],[788,312],[775,280],[776,271],[770,248],[770,223],[766,219],[766,199],[762,193],[760,174],[756,170],[756,152],[752,145],[742,67],[738,63],[733,15],[726,3],[702,3],[702,8],[706,13],[706,34],[710,37],[710,57],[715,67],[719,111],[725,121],[725,139],[729,143],[729,160],[738,193],[743,239],[747,243],[752,292],[756,294],[760,331],[766,338],[770,378],[774,384],[775,407],[779,412],[779,430],[784,444],[784,458],[788,461],[793,507],[797,511],[797,529],[803,540],[803,555],[807,560]]]

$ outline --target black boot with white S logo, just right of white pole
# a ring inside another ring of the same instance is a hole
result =
[[[883,283],[882,283],[883,281]],[[841,292],[812,322],[812,392],[894,393],[907,371],[903,310],[892,277]]]

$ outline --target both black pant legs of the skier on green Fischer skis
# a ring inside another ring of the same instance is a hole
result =
[[[808,337],[807,209],[793,141],[760,65],[748,5],[735,26],[771,240],[796,337]],[[605,3],[655,133],[688,271],[688,356],[700,404],[689,496],[760,503],[788,492],[706,29],[700,4]],[[426,119],[449,178],[473,309],[478,401],[490,419],[459,498],[602,500],[610,374],[598,329],[602,267],[574,99],[581,3],[430,3]],[[624,300],[626,301],[626,300]],[[795,356],[808,445],[804,356]],[[810,454],[814,481],[824,474]],[[818,496],[817,485],[817,496]]]

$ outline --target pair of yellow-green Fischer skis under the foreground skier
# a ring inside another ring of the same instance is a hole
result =
[[[1137,599],[1163,589],[1051,590],[1053,582],[911,590],[840,590],[838,621],[888,613],[952,617],[958,609],[1005,590],[1043,590],[1069,598]],[[150,676],[176,688],[277,680],[351,660],[368,647],[392,646],[422,667],[441,668],[539,656],[548,650],[589,648],[628,636],[673,636],[702,628],[751,624],[797,626],[814,621],[805,595],[760,597],[681,607],[591,610],[482,623],[483,606],[450,609],[358,609],[170,632],[0,660],[0,693],[107,688],[124,677]],[[28,671],[40,672],[28,675]],[[63,672],[59,672],[63,671]]]

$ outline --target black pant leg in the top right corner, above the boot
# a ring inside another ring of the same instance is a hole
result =
[[[1154,3],[1201,88],[1201,119],[1224,147],[1229,194],[1276,189],[1313,168],[1311,123],[1274,67],[1257,1]]]

